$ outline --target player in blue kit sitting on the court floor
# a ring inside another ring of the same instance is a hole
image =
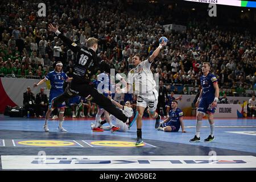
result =
[[[177,107],[177,101],[172,101],[171,110],[169,111],[169,117],[159,123],[156,122],[158,130],[167,132],[177,132],[180,129],[182,133],[186,133],[183,123],[183,111]]]

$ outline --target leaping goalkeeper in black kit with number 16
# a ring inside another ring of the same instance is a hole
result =
[[[94,75],[96,68],[110,73],[110,65],[98,59],[96,55],[98,39],[89,38],[86,41],[87,47],[79,47],[76,43],[61,34],[52,24],[49,24],[48,30],[54,32],[74,53],[77,53],[77,60],[73,67],[73,79],[65,89],[65,92],[52,100],[51,109],[53,110],[58,104],[79,95],[89,98],[92,102],[100,105],[122,122],[126,122],[127,124],[133,122],[136,118],[127,118],[108,98],[104,97],[103,94],[99,93],[98,90],[90,84],[90,77]]]

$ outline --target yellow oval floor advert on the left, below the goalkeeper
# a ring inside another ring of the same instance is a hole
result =
[[[75,140],[13,140],[18,147],[82,147]]]

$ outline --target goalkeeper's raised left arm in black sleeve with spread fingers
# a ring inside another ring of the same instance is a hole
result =
[[[48,25],[48,30],[51,31],[51,32],[54,32],[57,35],[58,38],[63,40],[63,42],[65,44],[67,44],[67,46],[71,49],[71,51],[73,51],[73,52],[79,52],[80,51],[81,48],[75,42],[72,42],[66,36],[61,34],[61,32],[58,30],[58,28],[53,27],[53,25],[51,23]]]

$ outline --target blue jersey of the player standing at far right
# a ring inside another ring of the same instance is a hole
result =
[[[201,86],[203,89],[202,98],[212,99],[215,97],[215,89],[213,87],[214,82],[218,82],[216,76],[208,73],[207,76],[201,76]]]

